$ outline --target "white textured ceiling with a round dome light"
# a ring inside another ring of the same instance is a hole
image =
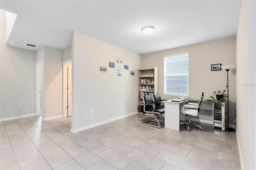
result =
[[[0,1],[18,15],[6,45],[64,49],[76,31],[140,54],[236,36],[240,6],[240,0]],[[140,30],[147,25],[156,28],[149,36]]]

